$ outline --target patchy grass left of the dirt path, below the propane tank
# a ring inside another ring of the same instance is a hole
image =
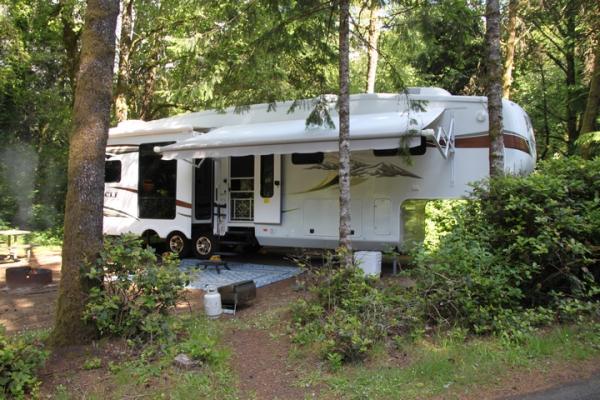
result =
[[[204,317],[187,316],[175,316],[170,323],[175,326],[177,337],[145,344],[141,353],[127,360],[99,366],[106,370],[108,378],[89,389],[85,398],[106,398],[107,395],[115,399],[238,398],[230,352],[221,343],[222,324]],[[202,363],[192,370],[175,367],[173,359],[181,352]],[[86,360],[86,364],[87,361],[94,359]],[[80,394],[69,393],[63,386],[55,390],[54,396],[66,400],[79,398]]]

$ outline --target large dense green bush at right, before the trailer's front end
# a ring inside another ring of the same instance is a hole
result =
[[[600,159],[549,160],[528,177],[477,184],[436,246],[415,254],[424,315],[519,336],[593,313],[600,270]]]

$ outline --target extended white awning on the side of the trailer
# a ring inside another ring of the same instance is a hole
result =
[[[410,137],[425,134],[423,130],[443,112],[443,108],[430,108],[351,116],[350,148],[356,151],[418,145],[420,142],[412,144]],[[155,151],[164,159],[334,152],[338,150],[338,132],[337,127],[307,128],[304,119],[233,125],[156,147]]]

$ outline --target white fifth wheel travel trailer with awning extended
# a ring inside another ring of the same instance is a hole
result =
[[[338,129],[307,125],[311,100],[126,121],[110,130],[104,232],[166,240],[180,255],[220,245],[335,248]],[[527,114],[503,102],[507,173],[533,170]],[[410,205],[455,199],[488,167],[487,99],[438,88],[350,96],[352,241],[401,248]]]

